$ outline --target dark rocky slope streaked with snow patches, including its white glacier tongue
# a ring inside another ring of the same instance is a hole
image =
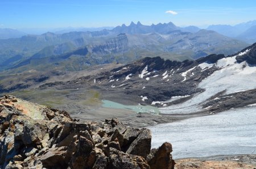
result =
[[[147,57],[104,74],[44,87],[82,90],[86,83],[97,86],[104,99],[123,104],[157,105],[169,114],[215,113],[256,103],[255,49],[256,44],[228,57],[212,54],[183,62]]]

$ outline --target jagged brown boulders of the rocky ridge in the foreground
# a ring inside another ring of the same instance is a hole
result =
[[[0,168],[174,168],[172,146],[117,119],[80,122],[65,111],[0,98]]]

